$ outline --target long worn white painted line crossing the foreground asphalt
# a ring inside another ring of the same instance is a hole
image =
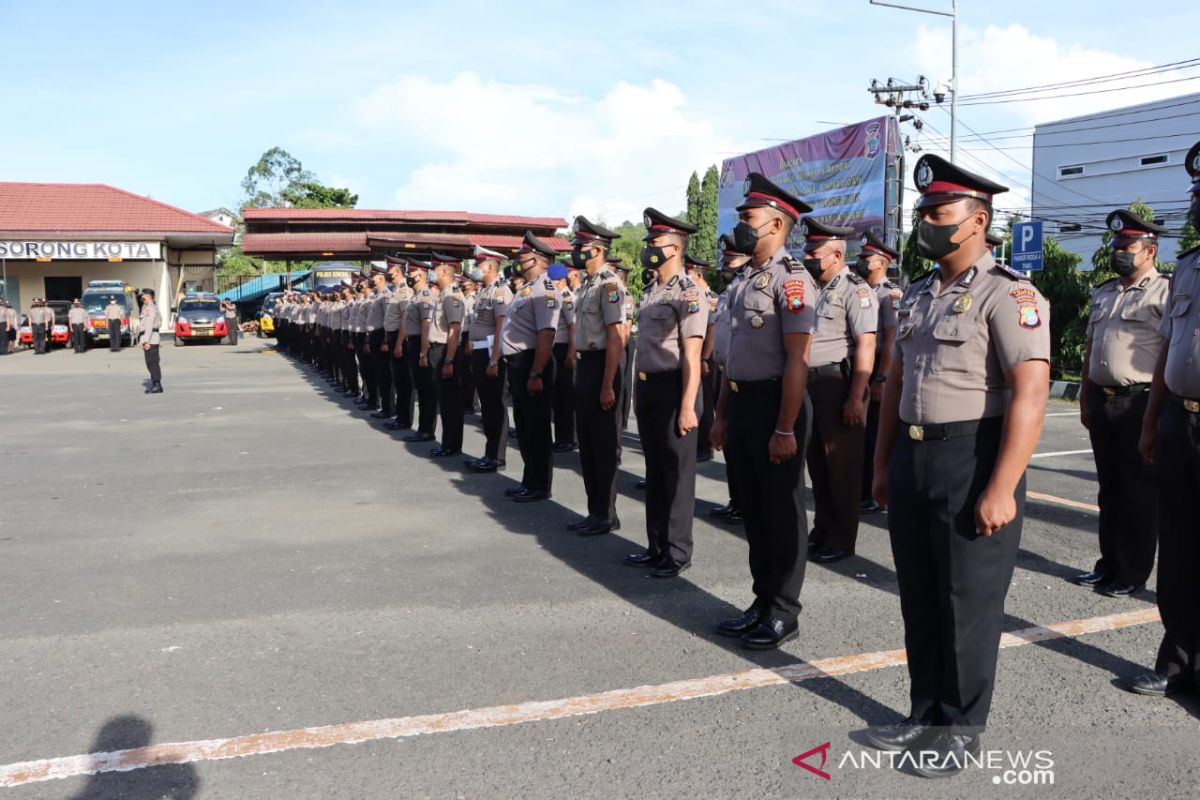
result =
[[[1000,646],[1016,648],[1049,639],[1114,631],[1134,625],[1147,625],[1158,621],[1158,619],[1157,608],[1145,608],[1123,614],[1111,614],[1109,616],[1093,616],[1046,626],[1039,625],[1006,633],[1001,637]],[[586,714],[661,705],[664,703],[691,700],[701,697],[716,697],[746,688],[779,686],[816,678],[871,672],[883,669],[884,667],[898,667],[905,663],[905,661],[904,650],[883,650],[880,652],[822,658],[811,663],[796,662],[775,669],[748,669],[724,675],[679,680],[659,686],[618,688],[611,692],[582,694],[580,697],[557,700],[534,700],[516,705],[493,705],[482,709],[451,711],[449,714],[346,722],[317,728],[296,728],[294,730],[248,734],[230,739],[180,741],[107,753],[44,758],[0,766],[0,788],[25,786],[26,783],[37,783],[40,781],[58,781],[80,775],[97,775],[100,772],[128,772],[149,766],[162,766],[164,764],[191,764],[196,762],[280,753],[290,750],[316,750],[319,747],[332,747],[334,745],[354,745],[364,741],[378,741],[380,739],[401,739],[406,736],[448,733],[451,730],[474,730],[520,724],[523,722],[562,720]]]

